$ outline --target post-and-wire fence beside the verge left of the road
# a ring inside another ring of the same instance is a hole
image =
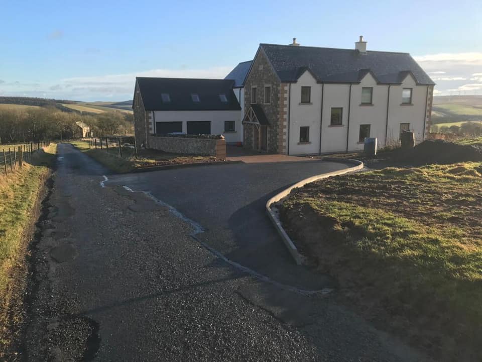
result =
[[[0,175],[8,176],[31,162],[34,152],[48,146],[50,141],[28,142],[16,145],[0,145]]]

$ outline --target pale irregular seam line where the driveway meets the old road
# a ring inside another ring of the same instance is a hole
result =
[[[104,176],[105,177],[105,176]],[[107,177],[105,177],[107,178]],[[101,183],[102,184],[102,183]],[[104,186],[102,186],[104,187]],[[300,289],[300,288],[296,288],[296,287],[293,287],[293,286],[290,286],[290,285],[286,285],[286,284],[282,284],[282,283],[279,283],[279,282],[276,282],[274,280],[272,280],[271,278],[263,275],[263,274],[260,274],[258,272],[256,272],[255,270],[253,269],[250,269],[249,267],[246,267],[244,265],[241,265],[235,261],[232,261],[230,259],[228,259],[227,257],[225,257],[221,252],[217,251],[216,249],[212,248],[211,246],[209,246],[208,244],[206,244],[205,242],[201,241],[197,235],[200,234],[200,233],[203,233],[204,232],[204,229],[202,228],[201,225],[199,225],[197,222],[195,222],[194,220],[191,220],[189,219],[187,216],[183,215],[181,212],[179,212],[179,210],[177,210],[176,208],[174,208],[173,206],[169,205],[169,204],[166,204],[165,202],[157,199],[155,196],[153,196],[150,192],[148,191],[134,191],[132,190],[130,187],[128,186],[123,186],[124,189],[126,189],[127,191],[129,192],[132,192],[132,193],[135,193],[135,192],[141,192],[143,194],[145,194],[146,196],[148,196],[150,199],[152,199],[156,204],[159,204],[161,206],[164,206],[164,207],[167,207],[169,209],[169,212],[171,214],[173,214],[174,216],[176,216],[177,218],[187,222],[188,224],[190,224],[194,230],[193,232],[190,234],[190,236],[196,240],[198,243],[200,243],[204,248],[206,248],[209,252],[211,252],[211,254],[217,256],[218,258],[220,258],[221,260],[225,261],[226,263],[228,263],[229,265],[233,266],[234,268],[236,269],[239,269],[241,270],[242,272],[262,281],[262,282],[266,282],[266,283],[270,283],[280,289],[284,289],[284,290],[287,290],[287,291],[290,291],[290,292],[294,292],[294,293],[298,293],[298,294],[303,294],[303,295],[323,295],[323,294],[328,294],[328,293],[331,293],[333,291],[333,289],[331,288],[323,288],[323,289],[320,289],[320,290],[306,290],[306,289]]]

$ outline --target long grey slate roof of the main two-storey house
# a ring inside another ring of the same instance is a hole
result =
[[[318,82],[358,83],[371,72],[379,83],[400,84],[411,73],[418,84],[435,84],[408,53],[260,44],[283,82],[307,69]]]

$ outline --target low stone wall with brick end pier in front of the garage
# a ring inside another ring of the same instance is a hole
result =
[[[226,158],[226,141],[224,139],[183,138],[183,137],[149,137],[149,148],[170,153],[195,154]]]

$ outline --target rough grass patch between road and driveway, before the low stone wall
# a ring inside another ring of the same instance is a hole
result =
[[[129,172],[135,168],[149,166],[166,166],[173,164],[187,164],[200,162],[218,162],[213,156],[182,155],[177,153],[167,153],[157,150],[141,150],[139,158],[135,158],[133,148],[123,148],[123,157],[118,155],[118,148],[113,146],[108,150],[90,149],[87,141],[72,141],[73,146],[85,152],[98,162],[114,172]]]

